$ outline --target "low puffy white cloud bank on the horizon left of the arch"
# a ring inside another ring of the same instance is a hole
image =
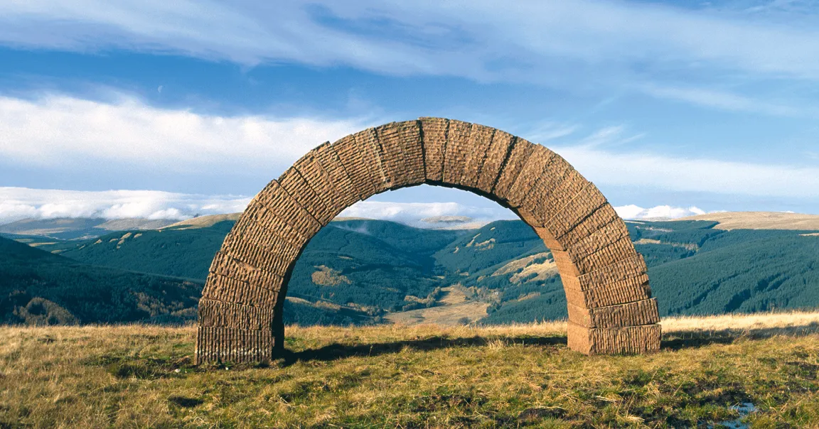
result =
[[[245,210],[249,196],[162,191],[64,191],[0,187],[0,224],[19,219],[188,219]]]

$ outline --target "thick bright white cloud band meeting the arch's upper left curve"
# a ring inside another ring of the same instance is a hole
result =
[[[127,96],[0,97],[0,159],[20,165],[116,160],[177,172],[269,171],[364,128],[361,120],[199,115]]]

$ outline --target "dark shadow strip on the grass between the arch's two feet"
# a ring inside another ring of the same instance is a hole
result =
[[[446,349],[449,347],[471,347],[488,345],[492,341],[502,341],[506,344],[517,345],[566,345],[565,336],[471,336],[468,338],[449,338],[446,336],[431,336],[419,340],[405,340],[381,342],[374,344],[344,345],[331,344],[319,349],[302,351],[284,350],[285,366],[295,364],[298,361],[331,361],[346,359],[357,356],[378,356],[381,354],[398,353],[405,348],[412,350],[428,351]]]

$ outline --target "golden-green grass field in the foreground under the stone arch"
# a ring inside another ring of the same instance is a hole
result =
[[[203,367],[193,327],[0,327],[0,427],[819,427],[819,313],[663,327],[591,357],[563,323],[288,327],[286,359]]]

